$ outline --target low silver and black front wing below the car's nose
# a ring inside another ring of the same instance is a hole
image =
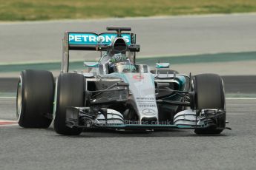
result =
[[[186,112],[182,111],[180,115]],[[209,111],[207,111],[209,112]],[[207,115],[209,118],[217,118],[225,113],[224,110],[214,112],[214,114]],[[179,113],[177,114],[178,117]],[[190,116],[190,118],[186,118]],[[122,114],[113,109],[90,109],[89,107],[68,107],[66,114],[66,125],[70,128],[103,128],[103,129],[226,129],[216,127],[215,123],[207,121],[207,116],[202,114],[195,114],[194,119],[191,120],[191,111],[182,118],[177,118],[177,122],[181,123],[166,123],[159,124],[158,122],[131,122],[123,119]],[[103,118],[103,119],[102,119]],[[187,121],[187,123],[186,123]],[[185,123],[184,123],[185,122]]]

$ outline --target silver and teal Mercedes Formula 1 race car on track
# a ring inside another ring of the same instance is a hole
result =
[[[43,70],[22,71],[17,89],[19,126],[47,128],[61,135],[84,129],[194,129],[220,134],[226,129],[223,80],[219,75],[183,75],[157,63],[137,64],[140,45],[130,27],[114,33],[66,32],[59,77]],[[124,33],[126,32],[126,33]],[[84,62],[88,72],[69,72],[70,50],[99,52]]]

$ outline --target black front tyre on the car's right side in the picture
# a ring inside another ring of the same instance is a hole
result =
[[[193,79],[193,88],[195,92],[195,109],[226,109],[223,80],[219,75],[195,75]],[[216,126],[211,126],[206,129],[195,129],[194,132],[198,135],[220,134],[223,132],[223,129],[217,128],[226,127],[226,112],[214,121]]]

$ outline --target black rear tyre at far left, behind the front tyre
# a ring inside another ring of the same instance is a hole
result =
[[[44,70],[22,71],[16,95],[16,116],[24,128],[47,128],[53,114],[53,74]]]

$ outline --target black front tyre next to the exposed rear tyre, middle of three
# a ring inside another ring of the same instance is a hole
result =
[[[60,135],[79,135],[82,128],[66,126],[66,108],[68,106],[82,107],[85,103],[84,76],[76,73],[59,75],[56,93],[56,115],[54,129]]]

